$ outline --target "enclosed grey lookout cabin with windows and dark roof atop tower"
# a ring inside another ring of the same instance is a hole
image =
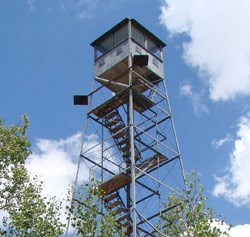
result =
[[[91,46],[94,47],[95,80],[112,92],[120,92],[129,85],[130,67],[133,68],[133,89],[139,92],[147,90],[145,81],[153,86],[164,78],[166,44],[134,19],[125,18]]]

